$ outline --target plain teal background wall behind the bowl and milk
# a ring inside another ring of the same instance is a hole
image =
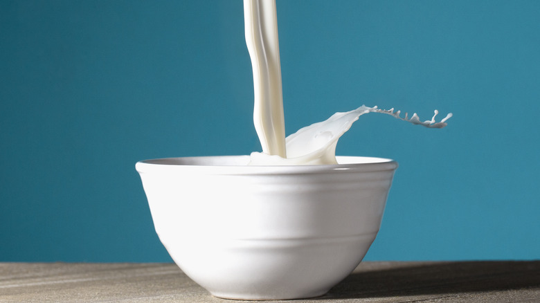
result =
[[[366,259],[540,257],[540,1],[278,1],[287,134],[400,167]],[[240,0],[0,0],[0,261],[170,261],[138,160],[249,154]]]

